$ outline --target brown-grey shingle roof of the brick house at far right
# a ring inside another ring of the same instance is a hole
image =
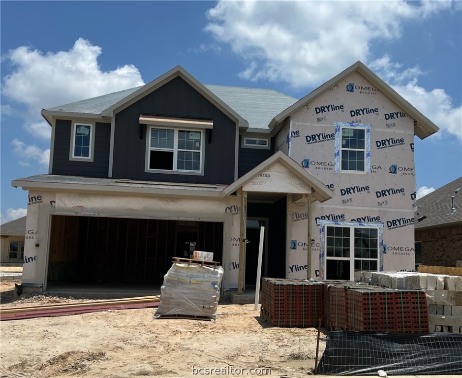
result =
[[[432,191],[418,199],[415,215],[415,229],[443,226],[452,223],[462,223],[462,177]],[[454,196],[456,212],[451,213],[451,196]],[[420,217],[427,217],[418,221]]]

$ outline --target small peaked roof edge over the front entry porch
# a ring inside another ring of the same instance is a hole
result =
[[[267,168],[271,167],[277,162],[282,163],[282,165],[284,165],[289,171],[295,173],[295,175],[299,179],[301,179],[302,182],[310,186],[313,197],[317,199],[319,202],[324,202],[332,198],[331,189],[327,188],[321,181],[319,181],[311,173],[307,172],[299,163],[297,163],[294,159],[289,158],[281,151],[278,151],[276,154],[267,158],[265,161],[257,165],[251,171],[247,172],[244,176],[236,180],[234,183],[224,188],[221,191],[221,196],[225,197],[235,192],[237,189],[244,186],[259,173],[265,171]]]

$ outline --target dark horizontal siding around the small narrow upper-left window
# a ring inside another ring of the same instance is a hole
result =
[[[69,160],[72,121],[57,120],[53,150],[54,175],[108,177],[111,124],[95,124],[93,161]]]

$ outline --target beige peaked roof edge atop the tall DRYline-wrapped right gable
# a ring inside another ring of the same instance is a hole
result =
[[[417,135],[420,139],[424,139],[431,134],[434,134],[439,130],[439,127],[431,122],[427,117],[425,117],[421,112],[419,112],[414,106],[412,106],[407,100],[405,100],[401,95],[398,94],[393,88],[391,88],[387,83],[380,79],[374,72],[372,72],[366,65],[360,61],[354,63],[343,72],[340,72],[337,76],[333,77],[328,82],[324,83],[320,87],[316,88],[314,91],[297,101],[292,106],[289,106],[287,109],[279,113],[273,120],[270,122],[269,127],[279,125],[286,117],[290,116],[292,113],[298,111],[300,108],[305,106],[309,101],[312,101],[315,97],[322,95],[339,81],[350,76],[354,72],[359,72],[366,79],[370,81],[375,87],[379,88],[380,91],[392,99],[396,104],[410,117],[414,119],[414,135]]]

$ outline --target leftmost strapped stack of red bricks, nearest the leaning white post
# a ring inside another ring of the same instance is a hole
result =
[[[322,317],[320,282],[264,278],[261,316],[277,327],[316,327]]]

